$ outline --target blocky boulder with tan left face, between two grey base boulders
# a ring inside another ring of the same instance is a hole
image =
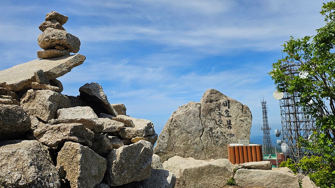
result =
[[[63,165],[71,187],[86,188],[99,184],[106,171],[106,159],[74,142],[65,142],[58,153],[57,165]]]

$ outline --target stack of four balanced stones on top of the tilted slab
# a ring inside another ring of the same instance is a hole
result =
[[[39,29],[43,32],[37,41],[43,50],[37,51],[37,57],[41,59],[54,58],[77,53],[80,48],[78,37],[67,33],[63,25],[69,18],[58,12],[51,11],[46,15],[45,22]]]

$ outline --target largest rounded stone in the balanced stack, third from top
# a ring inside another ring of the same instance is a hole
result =
[[[64,46],[69,52],[77,53],[80,48],[80,40],[78,37],[67,33],[65,30],[46,28],[39,35],[37,42],[42,49],[55,49],[56,46]]]

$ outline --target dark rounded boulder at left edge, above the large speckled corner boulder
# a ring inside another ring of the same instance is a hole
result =
[[[20,106],[0,104],[0,140],[20,136],[30,126],[30,118]]]

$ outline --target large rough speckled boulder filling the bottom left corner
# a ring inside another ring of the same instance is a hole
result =
[[[36,140],[0,142],[0,187],[60,188],[60,178],[45,146]]]

